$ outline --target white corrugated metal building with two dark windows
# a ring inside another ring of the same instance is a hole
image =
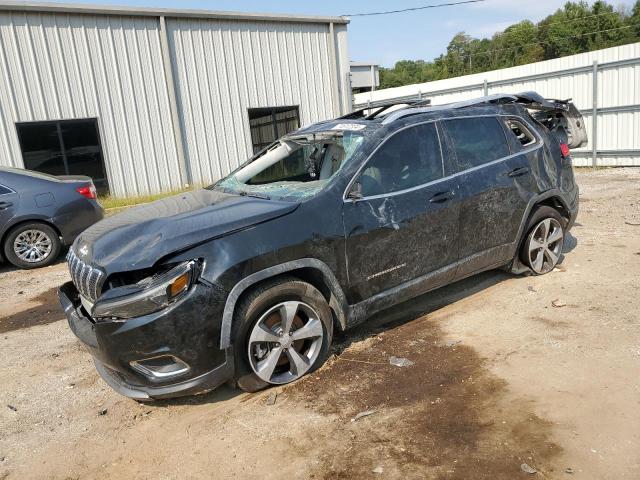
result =
[[[351,109],[342,17],[0,3],[0,165],[138,195]]]

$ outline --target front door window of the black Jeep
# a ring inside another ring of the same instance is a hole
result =
[[[391,136],[373,154],[358,181],[371,197],[424,185],[444,175],[440,140],[433,123]]]

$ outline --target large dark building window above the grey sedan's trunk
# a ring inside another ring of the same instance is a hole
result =
[[[109,193],[95,118],[17,123],[24,167],[50,175],[86,175]]]

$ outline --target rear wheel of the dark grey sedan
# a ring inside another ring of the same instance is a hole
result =
[[[23,269],[51,265],[58,258],[61,247],[58,232],[40,222],[18,225],[9,232],[3,245],[5,258]]]

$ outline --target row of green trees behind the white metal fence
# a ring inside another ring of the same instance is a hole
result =
[[[381,70],[381,88],[429,82],[549,60],[640,40],[640,0],[614,9],[604,0],[567,2],[537,24],[523,20],[491,38],[457,33],[432,62],[402,60]]]

